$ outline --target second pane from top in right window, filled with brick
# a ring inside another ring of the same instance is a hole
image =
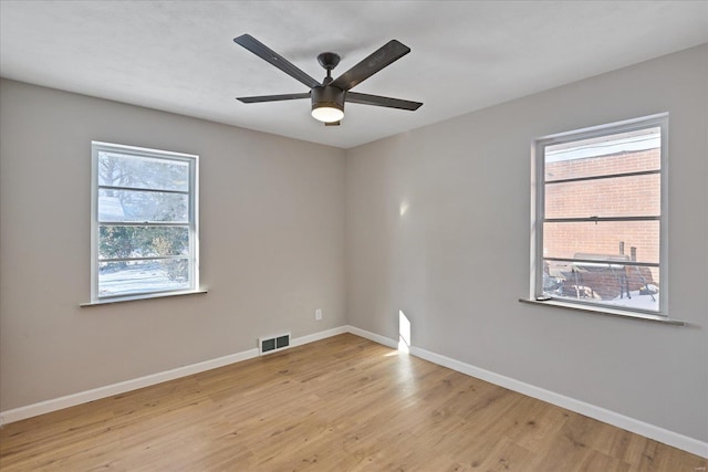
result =
[[[545,218],[658,217],[660,211],[658,174],[545,186]]]

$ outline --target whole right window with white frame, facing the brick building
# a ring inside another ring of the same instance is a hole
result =
[[[664,114],[535,141],[537,300],[665,316],[667,126]]]

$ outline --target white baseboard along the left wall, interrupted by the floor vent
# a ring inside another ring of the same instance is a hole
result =
[[[302,346],[303,344],[324,339],[331,336],[336,336],[337,334],[347,333],[347,326],[340,326],[299,338],[293,338],[291,339],[291,346]],[[105,387],[80,391],[77,394],[72,394],[60,398],[53,398],[51,400],[40,401],[39,403],[28,405],[25,407],[14,408],[12,410],[0,411],[0,426],[27,418],[37,417],[39,415],[49,413],[51,411],[74,407],[76,405],[87,403],[88,401],[98,400],[101,398],[113,397],[115,395],[125,394],[126,391],[137,390],[138,388],[149,387],[152,385],[190,376],[192,374],[202,373],[205,370],[216,369],[218,367],[228,366],[229,364],[252,359],[253,357],[258,357],[258,348],[230,354],[228,356],[218,357],[216,359],[205,360],[204,363],[178,367],[176,369],[152,374],[145,377],[107,385]]]

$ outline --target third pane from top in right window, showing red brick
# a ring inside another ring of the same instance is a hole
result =
[[[637,262],[659,262],[658,221],[543,223],[544,258],[631,259],[633,252]]]

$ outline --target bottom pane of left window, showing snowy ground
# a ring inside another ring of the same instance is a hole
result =
[[[188,265],[187,259],[102,262],[98,296],[187,290]]]

